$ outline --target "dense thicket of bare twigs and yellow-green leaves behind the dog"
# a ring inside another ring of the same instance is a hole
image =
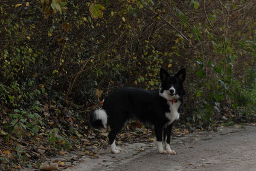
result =
[[[1,0],[0,143],[17,144],[18,157],[27,138],[70,144],[98,97],[122,86],[158,88],[160,67],[186,68],[180,122],[192,129],[255,120],[254,0],[96,4]]]

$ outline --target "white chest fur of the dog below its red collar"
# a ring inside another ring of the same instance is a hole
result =
[[[166,123],[166,125],[164,125],[164,127],[166,128],[168,125],[170,125],[171,123],[173,123],[175,120],[178,120],[180,117],[180,114],[178,113],[178,108],[180,107],[180,100],[177,101],[177,103],[172,103],[169,100],[167,101],[168,105],[169,105],[169,112],[166,112],[166,118],[169,120],[168,123]]]

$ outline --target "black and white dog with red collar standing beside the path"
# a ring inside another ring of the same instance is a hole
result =
[[[108,138],[114,154],[121,152],[121,149],[116,147],[116,134],[130,118],[154,125],[159,153],[176,154],[170,148],[170,136],[175,120],[179,119],[180,108],[186,94],[183,88],[185,77],[185,68],[180,69],[174,76],[161,68],[160,89],[152,91],[134,87],[117,89],[106,97],[102,109],[94,109],[91,112],[90,123],[105,128],[107,124],[110,125]],[[166,150],[162,146],[162,137]]]

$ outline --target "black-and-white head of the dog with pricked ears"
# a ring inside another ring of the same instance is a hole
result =
[[[183,88],[183,82],[186,77],[185,68],[181,68],[175,75],[169,74],[168,71],[160,69],[160,79],[162,81],[159,91],[160,96],[166,100],[178,100],[183,97],[186,91]]]

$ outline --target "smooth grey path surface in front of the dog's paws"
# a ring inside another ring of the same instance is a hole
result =
[[[256,127],[219,128],[217,133],[190,134],[172,145],[177,155],[155,151],[138,157],[116,171],[255,171]]]

